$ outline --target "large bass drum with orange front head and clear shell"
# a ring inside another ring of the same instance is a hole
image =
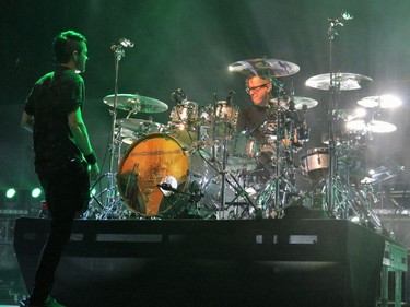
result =
[[[174,137],[148,134],[121,157],[119,193],[128,209],[142,216],[208,217],[215,208],[212,187],[219,175],[207,157],[206,152],[187,152]]]

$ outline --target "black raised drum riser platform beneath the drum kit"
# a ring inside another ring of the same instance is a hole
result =
[[[15,222],[27,288],[48,223]],[[400,306],[405,271],[406,247],[345,220],[78,220],[54,295],[99,307]]]

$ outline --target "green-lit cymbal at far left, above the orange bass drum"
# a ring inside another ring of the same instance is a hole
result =
[[[104,104],[114,107],[115,95],[104,97]],[[162,113],[168,109],[168,106],[159,99],[133,95],[118,94],[117,108],[122,110],[134,110],[138,113]]]

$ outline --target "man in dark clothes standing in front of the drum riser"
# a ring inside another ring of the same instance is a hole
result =
[[[40,78],[30,93],[21,126],[33,132],[35,170],[51,215],[34,287],[22,306],[63,306],[50,297],[55,271],[68,243],[77,213],[86,210],[90,177],[99,167],[82,118],[85,86],[86,38],[62,32],[52,43],[57,66]]]

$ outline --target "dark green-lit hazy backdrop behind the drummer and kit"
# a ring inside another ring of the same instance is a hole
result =
[[[383,109],[380,120],[397,131],[374,134],[366,153],[367,166],[386,157],[405,172],[395,179],[407,181],[410,150],[410,2],[407,0],[140,0],[140,1],[24,1],[1,0],[0,8],[0,188],[28,188],[37,184],[33,169],[31,135],[20,128],[24,99],[33,83],[52,69],[52,38],[74,29],[89,39],[90,60],[83,74],[87,99],[84,117],[101,162],[107,172],[110,135],[109,107],[103,97],[114,92],[113,44],[120,37],[136,43],[126,49],[119,66],[119,93],[153,97],[169,109],[153,120],[168,121],[171,93],[181,87],[200,105],[225,99],[250,104],[244,75],[229,72],[238,60],[267,56],[300,66],[298,73],[283,78],[296,96],[318,101],[308,110],[311,141],[304,150],[324,146],[327,131],[327,91],[305,86],[314,75],[329,72],[328,17],[343,9],[354,19],[338,27],[333,40],[333,70],[367,75],[370,86],[343,92],[338,108],[352,108],[360,98],[386,93],[403,101],[398,109]],[[126,117],[119,111],[118,117]],[[136,118],[147,118],[139,114]]]

